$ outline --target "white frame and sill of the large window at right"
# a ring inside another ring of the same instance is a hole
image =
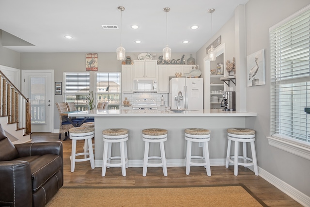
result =
[[[293,14],[292,16],[289,16],[288,18],[286,18],[283,21],[279,22],[278,24],[274,25],[273,27],[271,27],[269,29],[269,32],[271,32],[275,28],[285,24],[286,22],[294,19],[295,17],[300,16],[301,14],[303,14],[304,12],[306,12],[308,10],[310,10],[310,6],[303,8],[302,10]],[[271,43],[270,43],[270,47],[271,47]],[[271,49],[270,49],[270,51],[271,51]],[[273,54],[271,54],[271,52],[270,52],[270,59],[272,59],[272,57],[271,57],[272,55]],[[272,67],[271,66],[270,66],[270,71],[272,73]],[[272,74],[271,74],[271,76],[272,76]],[[306,81],[310,80],[309,76],[308,77],[306,76],[306,79],[307,79]],[[272,91],[273,90],[272,78],[270,78],[270,81],[271,81],[270,86],[271,86],[271,91]],[[274,96],[274,95],[272,93],[270,93],[270,96],[271,96],[270,97],[270,101],[271,101],[273,99],[272,96]],[[270,110],[271,110],[271,114],[274,113],[272,106],[270,107]],[[310,116],[310,115],[307,115],[307,118],[308,118],[308,116]],[[273,115],[271,115],[271,123],[272,123],[273,119],[274,119],[274,117],[273,117]],[[310,160],[310,143],[309,142],[301,141],[301,140],[289,137],[287,135],[281,135],[281,134],[277,134],[277,133],[273,134],[273,133],[274,132],[272,131],[272,126],[271,126],[270,127],[271,136],[267,137],[268,143],[271,146],[277,147],[277,148],[284,150],[286,152],[289,152],[289,153],[292,153],[292,154],[297,155],[299,157]]]

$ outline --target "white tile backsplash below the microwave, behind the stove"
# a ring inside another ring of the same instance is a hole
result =
[[[136,99],[141,98],[154,98],[158,106],[161,105],[162,96],[164,97],[165,105],[168,106],[168,94],[160,94],[153,92],[137,92],[137,93],[122,93],[122,103],[127,98],[130,104],[133,104]]]

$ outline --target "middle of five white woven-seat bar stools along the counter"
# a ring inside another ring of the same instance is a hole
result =
[[[167,141],[168,131],[162,128],[147,128],[142,130],[142,140],[145,142],[144,159],[143,159],[143,176],[146,176],[147,167],[160,167],[163,168],[164,176],[167,176],[167,163],[164,142]],[[149,156],[150,143],[159,143],[160,157]],[[161,163],[149,163],[149,159],[161,159]]]

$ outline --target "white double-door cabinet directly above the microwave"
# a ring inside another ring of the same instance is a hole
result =
[[[134,79],[156,79],[157,61],[134,61]]]

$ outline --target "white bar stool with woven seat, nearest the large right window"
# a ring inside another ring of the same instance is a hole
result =
[[[255,175],[258,175],[258,167],[255,152],[255,130],[248,128],[228,128],[227,129],[227,156],[226,168],[229,162],[234,164],[234,175],[238,175],[238,165],[254,167]],[[231,143],[234,141],[234,155],[231,156]],[[243,156],[239,156],[239,143],[243,144]],[[251,145],[252,158],[247,157],[247,143]],[[249,161],[249,162],[248,162]]]

